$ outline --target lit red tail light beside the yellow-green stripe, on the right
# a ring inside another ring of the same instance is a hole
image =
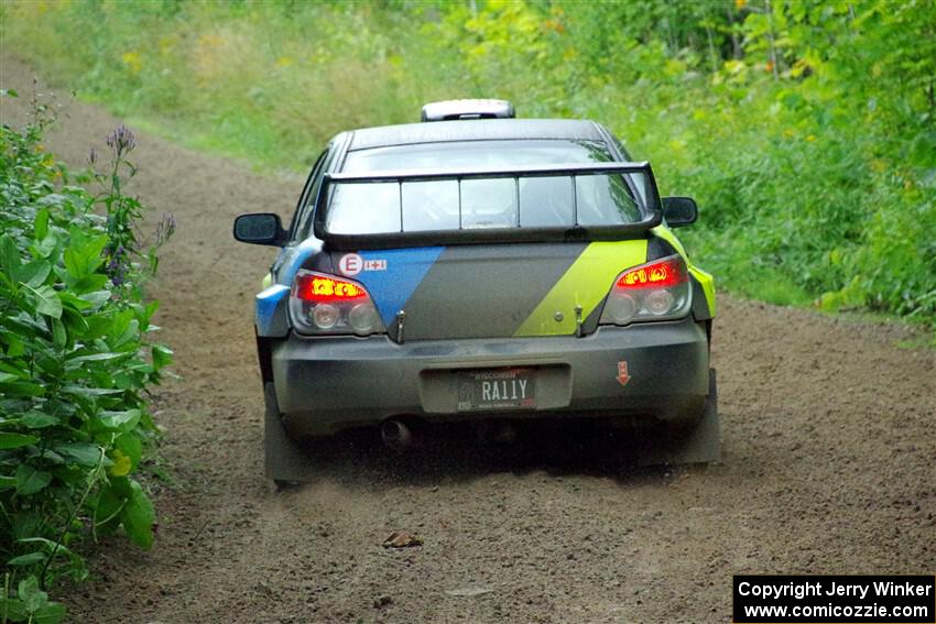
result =
[[[692,307],[686,263],[679,255],[628,269],[614,281],[601,325],[628,325],[641,320],[681,318]]]

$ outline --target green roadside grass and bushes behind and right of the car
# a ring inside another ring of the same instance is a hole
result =
[[[696,197],[720,285],[936,322],[936,1],[7,3],[3,41],[188,145],[304,171],[335,132],[501,97]]]

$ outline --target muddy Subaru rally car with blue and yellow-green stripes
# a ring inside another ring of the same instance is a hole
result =
[[[645,462],[718,458],[710,275],[672,229],[687,197],[603,127],[516,119],[502,100],[426,105],[421,123],[335,136],[257,295],[266,472],[302,442],[420,423],[605,418],[647,426]]]

